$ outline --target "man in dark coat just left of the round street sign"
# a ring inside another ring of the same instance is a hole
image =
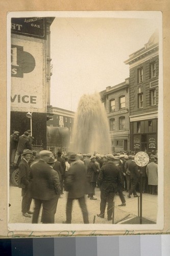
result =
[[[135,156],[132,156],[132,161],[129,163],[129,170],[131,172],[131,189],[129,190],[128,198],[131,198],[133,193],[134,197],[139,197],[136,193],[136,186],[139,182],[139,166],[134,161]]]

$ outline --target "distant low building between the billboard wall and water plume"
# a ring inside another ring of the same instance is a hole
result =
[[[47,121],[47,148],[66,152],[72,139],[75,112],[52,107],[53,117]]]

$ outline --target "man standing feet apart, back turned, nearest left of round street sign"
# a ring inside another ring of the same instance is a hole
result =
[[[108,162],[102,166],[99,173],[99,182],[101,185],[101,204],[100,204],[100,214],[97,216],[104,218],[106,202],[108,198],[108,207],[107,207],[107,219],[108,221],[112,220],[112,211],[113,211],[113,200],[117,186],[122,181],[120,176],[120,171],[118,167],[114,164],[114,156],[109,154],[107,155]]]

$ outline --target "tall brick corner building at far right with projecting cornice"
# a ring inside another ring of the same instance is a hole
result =
[[[129,55],[130,149],[156,151],[158,134],[159,35]]]

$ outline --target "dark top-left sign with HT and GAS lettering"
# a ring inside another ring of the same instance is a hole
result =
[[[11,33],[46,39],[45,18],[11,18]]]

